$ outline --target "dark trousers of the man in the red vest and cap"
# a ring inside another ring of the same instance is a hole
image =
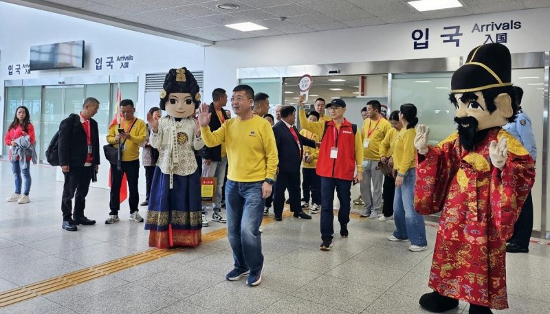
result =
[[[351,201],[351,181],[321,177],[321,238],[322,240],[332,240],[334,233],[334,189],[338,200],[340,200],[340,209],[338,210],[338,221],[340,225],[349,223],[349,210]]]

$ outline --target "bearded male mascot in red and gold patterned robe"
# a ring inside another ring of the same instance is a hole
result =
[[[506,240],[535,179],[534,161],[501,126],[518,106],[505,45],[481,45],[454,72],[450,102],[458,132],[428,146],[418,126],[415,210],[441,212],[430,288],[420,305],[433,313],[470,303],[470,314],[507,309]]]

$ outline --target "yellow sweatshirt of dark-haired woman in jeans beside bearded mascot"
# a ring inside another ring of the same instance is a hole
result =
[[[416,167],[415,136],[417,135],[416,128],[403,127],[393,146],[393,168],[397,169],[401,175],[404,175],[410,168]]]

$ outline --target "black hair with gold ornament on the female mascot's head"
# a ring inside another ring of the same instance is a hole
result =
[[[165,110],[164,104],[168,101],[170,93],[190,93],[193,102],[195,102],[195,109],[199,108],[199,104],[201,104],[201,93],[199,93],[197,80],[185,67],[170,69],[166,74],[162,91],[160,91],[160,109]]]

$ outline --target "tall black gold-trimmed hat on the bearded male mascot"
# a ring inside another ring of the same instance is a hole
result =
[[[452,93],[503,86],[511,86],[511,56],[508,48],[500,43],[475,47],[451,78]]]

